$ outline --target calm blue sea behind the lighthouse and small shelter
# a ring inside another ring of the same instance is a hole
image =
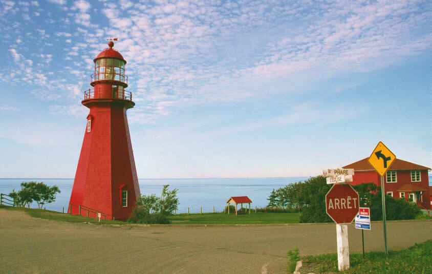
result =
[[[308,177],[287,178],[237,178],[237,179],[139,179],[141,194],[161,195],[162,186],[169,184],[169,189],[178,188],[179,209],[177,213],[212,212],[213,206],[218,212],[223,211],[226,201],[231,196],[248,196],[252,200],[251,207],[264,207],[273,188],[279,188],[290,183],[303,181]],[[43,181],[52,186],[57,185],[61,193],[56,201],[46,205],[47,209],[58,212],[68,207],[74,179],[0,179],[0,193],[9,194],[15,188],[18,191],[21,182]],[[37,208],[33,203],[31,207]]]

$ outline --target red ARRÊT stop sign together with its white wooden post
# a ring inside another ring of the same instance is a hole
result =
[[[339,271],[350,268],[348,225],[359,209],[358,193],[350,184],[336,183],[326,194],[326,212],[336,223],[337,264]]]

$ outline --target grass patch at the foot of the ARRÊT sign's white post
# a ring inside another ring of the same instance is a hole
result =
[[[337,272],[337,255],[325,254],[301,257],[303,269],[314,273]],[[303,269],[300,268],[300,271]],[[350,254],[350,269],[340,273],[431,273],[432,269],[432,240],[415,244],[402,250],[384,252],[368,252],[363,259],[362,254]]]

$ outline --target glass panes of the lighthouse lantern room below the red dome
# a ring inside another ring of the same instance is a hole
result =
[[[95,62],[95,81],[115,80],[124,82],[124,61],[116,58],[100,58]]]

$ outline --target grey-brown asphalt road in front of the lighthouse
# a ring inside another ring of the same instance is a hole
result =
[[[381,222],[365,250],[384,249]],[[389,249],[432,239],[431,221],[387,222]],[[349,225],[350,252],[361,231]],[[287,250],[336,252],[335,224],[100,226],[0,209],[0,273],[284,273]]]

